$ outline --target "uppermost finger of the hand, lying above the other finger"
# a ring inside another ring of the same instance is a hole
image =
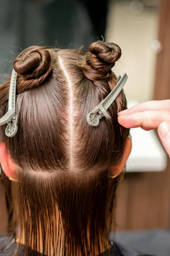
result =
[[[167,100],[153,100],[149,102],[140,103],[135,105],[128,110],[124,110],[118,113],[118,116],[126,114],[132,114],[143,111],[156,111],[156,110],[169,110],[170,111],[170,99]]]

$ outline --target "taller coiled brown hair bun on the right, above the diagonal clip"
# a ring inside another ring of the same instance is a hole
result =
[[[109,80],[112,76],[111,69],[121,57],[121,49],[111,42],[97,41],[90,45],[86,55],[86,64],[83,72],[93,81]]]

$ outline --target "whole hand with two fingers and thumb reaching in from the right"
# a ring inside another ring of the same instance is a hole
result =
[[[170,155],[170,100],[150,101],[118,113],[118,122],[126,128],[158,128],[159,138]]]

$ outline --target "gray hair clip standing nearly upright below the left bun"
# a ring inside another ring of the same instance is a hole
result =
[[[12,70],[11,82],[9,87],[8,112],[0,118],[0,125],[8,124],[5,130],[6,136],[13,137],[18,130],[17,121],[17,105],[16,105],[16,85],[17,73]]]

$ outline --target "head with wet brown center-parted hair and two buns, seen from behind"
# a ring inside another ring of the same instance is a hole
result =
[[[18,131],[0,127],[0,163],[11,181],[16,255],[99,255],[110,246],[113,197],[130,153],[129,130],[117,112],[123,91],[99,125],[86,115],[116,85],[121,49],[97,41],[83,50],[33,46],[14,61]],[[10,79],[0,86],[0,117],[8,108]],[[37,253],[37,254],[36,254]]]

